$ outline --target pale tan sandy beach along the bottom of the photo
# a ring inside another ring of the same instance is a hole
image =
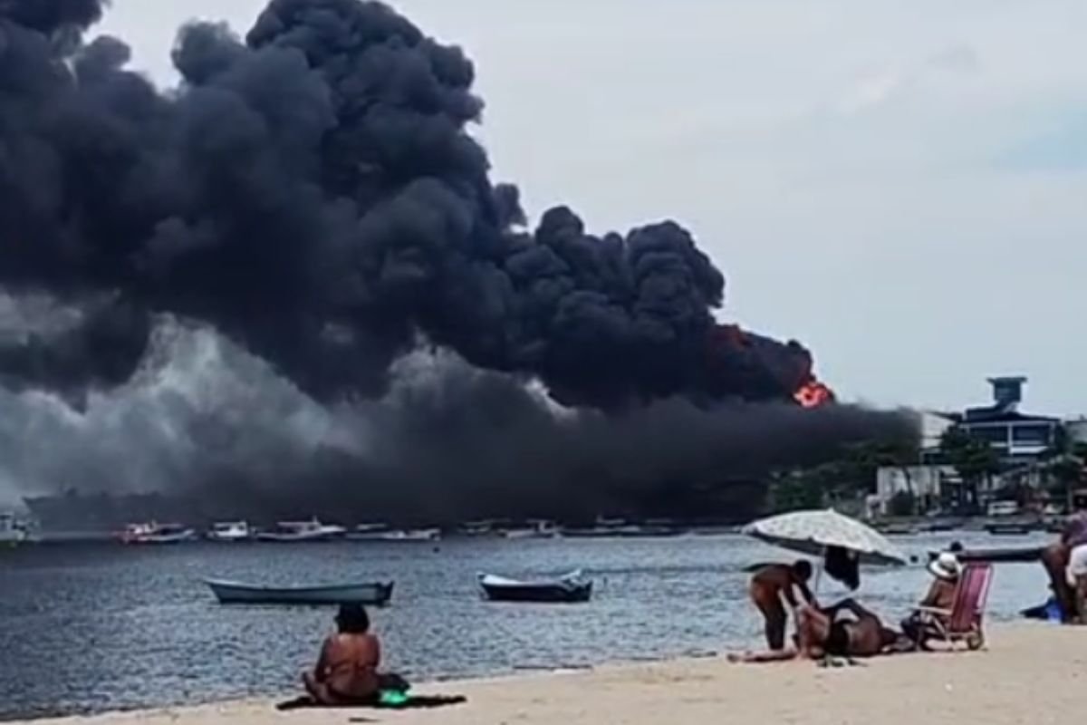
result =
[[[982,652],[905,654],[863,666],[811,662],[732,664],[724,659],[616,664],[420,686],[455,693],[466,704],[440,710],[302,710],[278,713],[271,701],[33,721],[67,725],[257,725],[383,722],[400,725],[989,725],[1071,722],[1083,711],[1087,628],[1014,625],[989,628]]]

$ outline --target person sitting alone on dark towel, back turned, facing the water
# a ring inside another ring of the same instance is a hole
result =
[[[407,690],[399,675],[377,672],[382,645],[370,632],[370,617],[361,604],[341,604],[336,615],[336,634],[321,647],[313,672],[302,673],[305,691],[318,704],[365,704],[376,701],[382,690]]]

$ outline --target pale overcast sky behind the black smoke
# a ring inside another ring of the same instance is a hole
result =
[[[393,4],[475,61],[529,214],[680,221],[722,317],[846,398],[958,408],[1022,373],[1026,410],[1087,413],[1087,2]],[[100,29],[167,85],[182,23],[262,5],[113,0]]]

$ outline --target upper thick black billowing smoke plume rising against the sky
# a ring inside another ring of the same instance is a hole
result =
[[[389,8],[273,0],[245,42],[190,25],[168,96],[116,39],[54,41],[100,14],[0,3],[0,279],[208,321],[326,399],[380,392],[420,334],[599,408],[782,399],[810,374],[799,346],[714,342],[724,278],[676,223],[596,237],[558,208],[521,229],[465,130],[471,61]],[[70,368],[55,385],[99,379]]]

